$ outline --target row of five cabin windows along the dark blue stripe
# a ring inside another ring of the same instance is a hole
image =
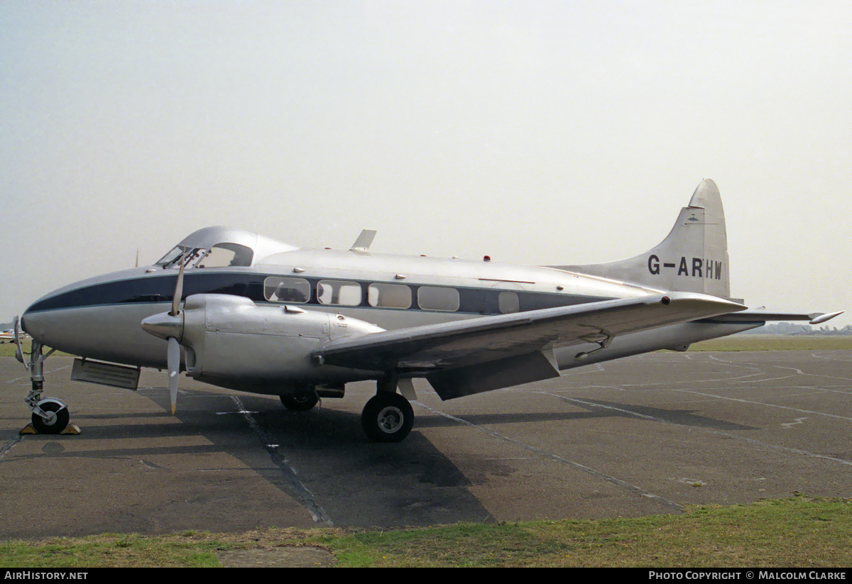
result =
[[[315,301],[331,306],[360,306],[362,284],[349,280],[320,280],[316,283]],[[263,296],[270,302],[304,304],[311,301],[313,290],[305,278],[270,276],[263,282]],[[367,304],[380,308],[411,308],[411,287],[400,283],[371,283],[367,285]],[[458,290],[440,286],[419,286],[417,307],[423,310],[455,312],[460,306]],[[498,295],[498,309],[504,314],[518,312],[521,301],[515,292]]]

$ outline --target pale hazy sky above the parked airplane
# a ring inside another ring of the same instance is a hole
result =
[[[849,0],[3,0],[0,322],[208,225],[619,260],[703,178],[734,296],[852,309],[850,63]]]

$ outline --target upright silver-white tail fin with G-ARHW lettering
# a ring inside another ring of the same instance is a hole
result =
[[[719,189],[712,180],[702,180],[668,237],[642,255],[607,264],[555,267],[656,289],[729,298],[728,234]]]

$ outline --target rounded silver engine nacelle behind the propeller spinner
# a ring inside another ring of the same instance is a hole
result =
[[[187,375],[219,386],[279,393],[289,383],[354,381],[369,375],[315,364],[322,343],[383,329],[299,306],[257,306],[233,295],[192,295],[183,307]]]

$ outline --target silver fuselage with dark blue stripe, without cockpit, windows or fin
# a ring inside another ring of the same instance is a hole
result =
[[[293,277],[360,283],[406,284],[449,287],[462,290],[469,300],[464,310],[423,310],[414,303],[408,308],[301,304],[304,310],[342,314],[382,329],[403,329],[478,318],[497,313],[486,299],[499,292],[521,297],[521,311],[545,306],[566,306],[595,301],[636,298],[659,294],[660,290],[621,283],[606,278],[538,266],[512,266],[492,261],[438,259],[423,256],[371,254],[353,250],[292,249],[256,261],[253,266],[187,269],[184,297],[194,294],[230,294],[249,297],[258,306],[282,306],[262,294],[269,277]],[[85,358],[155,368],[166,366],[166,341],[147,334],[140,323],[170,309],[176,269],[146,266],[113,272],[71,284],[36,301],[23,315],[27,333],[44,346]],[[476,299],[482,298],[481,304]],[[525,306],[526,305],[526,306]],[[684,323],[644,333],[624,335],[583,363],[573,357],[590,351],[585,343],[556,351],[561,369],[624,357],[657,348],[688,345],[694,341],[729,335],[751,325]],[[233,386],[233,384],[232,384]]]

